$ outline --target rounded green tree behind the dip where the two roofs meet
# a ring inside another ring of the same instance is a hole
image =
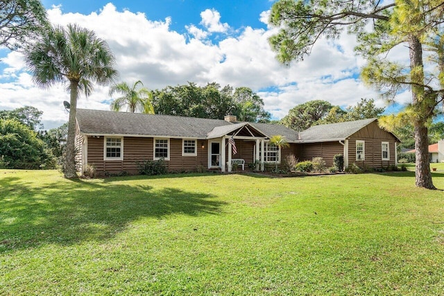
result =
[[[281,120],[281,123],[298,132],[307,130],[311,125],[325,118],[333,107],[327,101],[308,101],[289,110],[289,114]]]

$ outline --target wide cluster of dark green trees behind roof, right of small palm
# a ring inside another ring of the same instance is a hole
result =
[[[248,87],[233,89],[216,82],[199,87],[188,85],[156,89],[153,94],[155,114],[223,119],[232,114],[238,121],[268,121],[271,115],[264,110],[264,101]]]

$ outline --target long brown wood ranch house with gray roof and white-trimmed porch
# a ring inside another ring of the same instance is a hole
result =
[[[282,150],[269,143],[280,134],[290,144]],[[237,153],[234,155],[232,142]],[[323,157],[332,166],[343,154],[345,166],[385,167],[397,163],[399,139],[382,130],[377,119],[317,125],[296,132],[284,125],[78,109],[76,151],[80,172],[94,164],[99,174],[137,173],[137,162],[164,159],[169,171],[197,168],[232,171],[233,159],[264,171],[288,155],[300,161]],[[237,162],[237,161],[235,161]]]

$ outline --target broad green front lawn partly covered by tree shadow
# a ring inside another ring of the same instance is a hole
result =
[[[443,295],[443,209],[443,191],[415,188],[410,171],[3,170],[0,295]]]

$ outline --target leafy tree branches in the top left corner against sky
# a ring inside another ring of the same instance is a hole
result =
[[[37,39],[48,26],[39,0],[0,1],[0,47],[18,49],[26,40]]]

